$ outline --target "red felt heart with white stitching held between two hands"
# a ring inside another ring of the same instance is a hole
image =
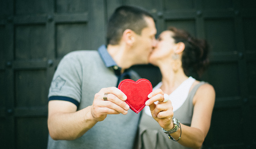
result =
[[[131,79],[124,79],[119,83],[118,89],[127,96],[125,102],[131,110],[139,113],[146,106],[148,94],[152,92],[152,84],[147,79],[139,79],[136,82]]]

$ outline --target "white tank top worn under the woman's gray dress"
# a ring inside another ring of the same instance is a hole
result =
[[[195,82],[195,79],[193,77],[187,78],[185,81],[183,81],[177,89],[175,89],[170,95],[169,100],[172,102],[173,112],[179,109],[182,104],[186,101],[187,96],[189,94],[189,90],[192,86],[192,84]],[[159,82],[154,88],[153,91],[156,89],[159,89],[162,86],[162,82]],[[157,103],[156,101],[155,103]],[[151,115],[149,106],[145,106],[144,112],[149,115]]]

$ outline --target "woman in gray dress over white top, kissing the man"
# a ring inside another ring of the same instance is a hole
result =
[[[193,70],[200,76],[208,64],[207,54],[207,43],[183,30],[172,27],[159,35],[149,61],[160,68],[162,81],[145,103],[149,107],[139,125],[139,148],[201,148],[210,128],[215,91],[186,74]]]

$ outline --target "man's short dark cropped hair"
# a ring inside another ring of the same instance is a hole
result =
[[[141,35],[143,28],[148,26],[145,17],[153,18],[149,12],[138,7],[118,7],[108,21],[107,45],[119,44],[126,29],[131,29],[136,34]]]

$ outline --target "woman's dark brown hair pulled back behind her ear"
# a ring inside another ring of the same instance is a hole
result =
[[[185,49],[182,53],[181,62],[184,73],[196,73],[199,77],[203,74],[209,64],[209,45],[206,40],[196,39],[185,30],[169,27],[174,35],[175,43],[183,42]]]

